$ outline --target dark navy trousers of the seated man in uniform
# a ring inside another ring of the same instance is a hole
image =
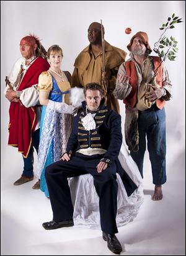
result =
[[[99,196],[102,231],[110,234],[118,232],[115,220],[118,194],[116,165],[112,163],[102,173],[98,173],[96,166],[100,158],[102,155],[86,156],[76,153],[68,162],[58,161],[46,168],[45,177],[53,210],[53,221],[73,219],[73,204],[67,178],[90,173],[94,177],[95,190]]]

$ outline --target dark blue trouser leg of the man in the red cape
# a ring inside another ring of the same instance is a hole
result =
[[[37,129],[32,134],[32,145],[30,147],[27,158],[23,157],[24,170],[22,172],[22,175],[24,175],[24,176],[28,176],[28,177],[33,176],[33,147],[35,148],[36,152],[38,153],[39,142],[40,142],[40,129]]]

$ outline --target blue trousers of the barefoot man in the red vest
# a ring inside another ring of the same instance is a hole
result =
[[[153,106],[146,111],[139,111],[139,150],[131,151],[131,157],[138,165],[143,178],[143,160],[146,151],[146,138],[151,161],[154,185],[166,182],[166,113],[164,107]]]

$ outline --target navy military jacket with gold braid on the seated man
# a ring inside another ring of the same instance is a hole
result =
[[[94,121],[95,129],[86,130],[81,119],[86,116],[86,102],[82,102],[82,112],[73,119],[73,130],[68,140],[67,152],[74,154],[79,149],[98,148],[107,152],[103,162],[112,163],[120,152],[122,145],[121,116],[104,104],[100,104]]]

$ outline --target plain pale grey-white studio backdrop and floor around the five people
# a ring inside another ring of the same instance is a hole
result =
[[[161,35],[162,23],[175,13],[181,24],[168,30],[179,42],[175,62],[166,60],[172,81],[172,99],[166,104],[167,183],[164,199],[151,200],[154,185],[146,153],[144,204],[136,219],[119,229],[122,255],[185,254],[185,1],[1,1],[1,254],[2,255],[112,255],[100,231],[59,229],[45,231],[42,222],[52,219],[50,202],[32,190],[36,180],[22,186],[13,183],[22,173],[22,157],[7,146],[9,101],[4,98],[5,76],[20,57],[20,39],[38,35],[48,50],[63,48],[62,70],[73,72],[74,60],[89,42],[87,29],[102,22],[105,40],[123,48],[138,31],[147,32],[149,45]],[[130,35],[125,34],[131,27]],[[129,55],[126,56],[126,59]],[[122,126],[125,108],[120,101]],[[123,129],[124,132],[124,129]],[[35,165],[37,161],[35,162]]]

